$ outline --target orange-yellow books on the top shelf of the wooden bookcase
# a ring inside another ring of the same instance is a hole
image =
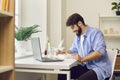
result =
[[[0,11],[9,11],[10,0],[0,0]]]

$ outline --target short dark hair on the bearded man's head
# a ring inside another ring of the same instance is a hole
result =
[[[81,21],[85,25],[83,17],[78,13],[74,13],[68,17],[66,26],[71,26],[71,25],[77,24],[79,21]]]

